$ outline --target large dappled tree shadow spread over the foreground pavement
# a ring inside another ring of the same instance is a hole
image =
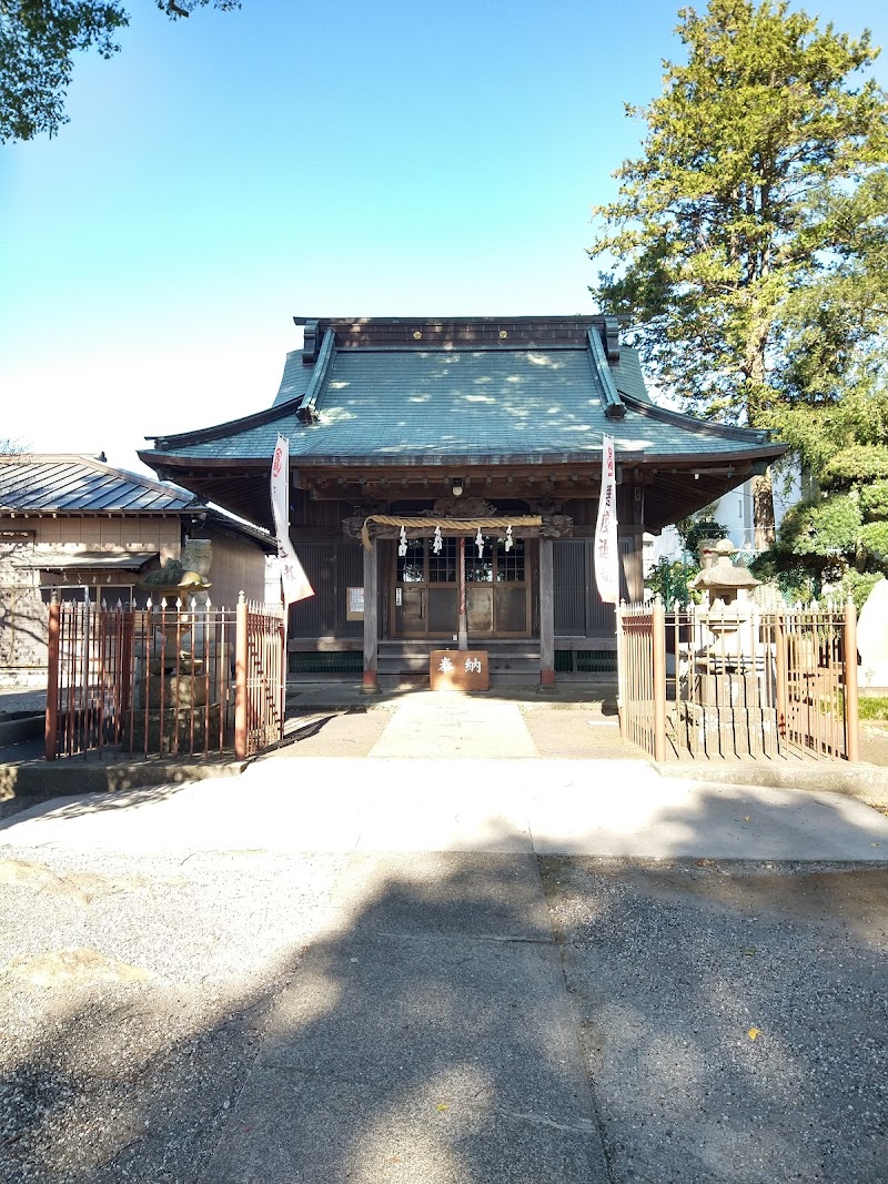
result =
[[[590,1184],[598,1114],[611,1180],[884,1180],[888,869],[539,866],[551,913],[530,855],[355,855],[175,1040],[174,983],[71,991],[7,1050],[0,1176]]]

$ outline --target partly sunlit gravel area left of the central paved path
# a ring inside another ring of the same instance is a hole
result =
[[[0,858],[0,1179],[199,1179],[342,856]]]

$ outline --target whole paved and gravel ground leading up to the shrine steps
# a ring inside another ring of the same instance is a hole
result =
[[[0,1178],[884,1184],[888,818],[425,702],[0,824]]]

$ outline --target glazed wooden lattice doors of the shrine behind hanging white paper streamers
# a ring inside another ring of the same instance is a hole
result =
[[[408,539],[395,556],[393,637],[451,641],[459,618],[459,540],[443,539],[436,554],[427,539]],[[530,572],[523,539],[506,549],[485,539],[484,553],[465,545],[465,613],[472,638],[530,636]]]

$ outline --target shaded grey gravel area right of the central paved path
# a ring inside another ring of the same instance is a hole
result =
[[[541,870],[614,1184],[883,1184],[888,869]]]

